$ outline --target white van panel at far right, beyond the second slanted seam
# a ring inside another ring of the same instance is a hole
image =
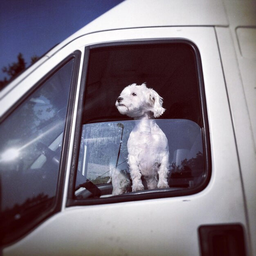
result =
[[[240,74],[243,84],[254,136],[254,146],[256,147],[256,2],[245,1],[245,3],[225,1],[225,6],[229,18],[229,31],[233,40],[232,45],[236,53],[230,56],[236,56],[238,74]],[[223,41],[220,43],[220,47],[227,47],[227,45]]]

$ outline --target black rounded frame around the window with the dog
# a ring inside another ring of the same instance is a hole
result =
[[[204,153],[204,166],[205,172],[203,176],[202,183],[199,186],[191,189],[177,190],[177,189],[164,189],[162,191],[137,191],[131,192],[132,194],[125,196],[118,195],[115,197],[107,198],[96,198],[96,199],[76,199],[75,192],[75,183],[76,183],[76,171],[79,161],[79,149],[83,125],[83,106],[85,103],[85,89],[86,83],[88,81],[88,68],[90,61],[90,50],[101,47],[118,47],[125,45],[143,45],[143,44],[170,44],[170,43],[185,43],[191,47],[195,56],[195,67],[198,81],[198,92],[200,100],[200,112],[202,117],[202,142],[203,142],[203,153]],[[110,42],[110,43],[97,43],[94,45],[89,45],[85,47],[84,59],[83,59],[83,71],[81,76],[81,85],[80,93],[78,100],[78,109],[76,116],[76,125],[75,125],[75,135],[74,135],[74,146],[72,152],[72,164],[70,169],[70,179],[68,184],[68,193],[67,193],[67,203],[66,206],[82,206],[82,205],[95,205],[95,204],[110,204],[118,202],[131,202],[139,200],[149,200],[157,198],[171,198],[184,195],[192,195],[199,193],[206,188],[211,178],[211,145],[210,145],[210,136],[209,136],[209,122],[207,116],[207,103],[206,95],[204,90],[204,77],[202,71],[202,61],[200,57],[200,52],[198,47],[191,40],[183,38],[168,38],[168,39],[152,39],[152,40],[128,40],[122,42]]]

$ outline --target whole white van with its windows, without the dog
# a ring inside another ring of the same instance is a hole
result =
[[[253,0],[126,0],[23,72],[0,92],[0,254],[255,256],[255,47]],[[112,195],[136,122],[115,101],[144,82],[170,188]]]

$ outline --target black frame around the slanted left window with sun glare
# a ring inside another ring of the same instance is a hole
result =
[[[12,112],[16,110],[24,101],[26,101],[31,94],[36,92],[40,88],[43,83],[45,83],[51,76],[53,76],[58,70],[60,70],[64,65],[66,65],[69,61],[74,59],[74,66],[72,70],[70,90],[67,99],[67,112],[65,117],[65,124],[63,130],[63,141],[61,148],[61,156],[60,156],[60,164],[59,164],[59,172],[58,172],[58,181],[56,184],[56,195],[54,196],[54,202],[51,207],[47,210],[43,211],[40,215],[38,215],[34,220],[26,225],[23,225],[20,229],[12,232],[10,234],[5,234],[0,238],[0,245],[6,245],[8,243],[14,242],[19,239],[21,236],[27,234],[31,229],[34,229],[41,222],[45,221],[45,219],[49,218],[53,214],[61,211],[62,201],[63,201],[63,193],[64,193],[64,182],[65,182],[65,171],[67,167],[67,155],[69,151],[70,137],[71,137],[71,124],[74,115],[74,106],[75,106],[75,95],[76,95],[76,87],[78,83],[79,77],[79,67],[81,62],[81,51],[76,50],[66,58],[64,58],[60,63],[58,63],[52,70],[50,70],[45,76],[43,76],[38,82],[34,84],[34,86],[29,89],[13,106],[2,116],[0,119],[0,124],[5,121]]]

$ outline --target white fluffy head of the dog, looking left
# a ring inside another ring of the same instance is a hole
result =
[[[154,117],[160,117],[165,109],[162,107],[163,98],[146,84],[128,85],[121,92],[115,103],[118,111],[128,117],[141,117],[148,112],[153,112]]]

